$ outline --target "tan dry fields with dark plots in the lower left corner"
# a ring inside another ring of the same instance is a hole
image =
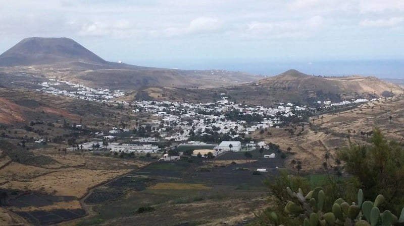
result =
[[[147,164],[146,161],[91,154],[65,154],[54,148],[25,152],[9,145],[7,148],[3,145],[7,153],[0,154],[0,191],[9,199],[5,211],[11,213],[9,216],[24,217],[34,225],[53,224],[85,215],[80,199],[92,187]],[[14,161],[8,155],[9,148],[18,153],[17,159],[13,157]],[[27,155],[31,161],[25,160]]]

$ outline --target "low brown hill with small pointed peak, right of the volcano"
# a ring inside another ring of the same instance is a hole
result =
[[[271,106],[277,102],[313,104],[328,100],[335,103],[358,98],[373,99],[403,92],[403,88],[375,77],[315,77],[292,69],[257,82],[221,88],[147,88],[139,93],[142,97],[138,98],[212,102],[220,100],[222,96],[219,94],[225,93],[236,103]]]

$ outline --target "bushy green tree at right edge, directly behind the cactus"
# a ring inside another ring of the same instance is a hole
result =
[[[381,131],[373,130],[371,144],[350,143],[338,157],[344,162],[346,172],[356,176],[362,183],[367,199],[378,194],[397,214],[404,203],[404,150],[402,143],[387,141]]]

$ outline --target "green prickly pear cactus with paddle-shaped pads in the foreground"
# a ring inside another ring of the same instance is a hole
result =
[[[338,198],[331,212],[323,212],[326,194],[321,187],[306,195],[300,188],[296,193],[287,187],[286,192],[292,200],[287,202],[284,210],[291,217],[304,219],[303,226],[391,226],[397,222],[404,223],[404,208],[399,217],[389,210],[381,213],[379,206],[385,202],[384,196],[378,195],[374,202],[364,201],[362,189],[358,191],[358,203],[349,204]],[[271,212],[270,216],[278,224],[277,214]]]

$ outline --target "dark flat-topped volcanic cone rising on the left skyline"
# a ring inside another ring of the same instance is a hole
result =
[[[67,64],[107,61],[70,38],[26,38],[0,55],[0,66]]]

